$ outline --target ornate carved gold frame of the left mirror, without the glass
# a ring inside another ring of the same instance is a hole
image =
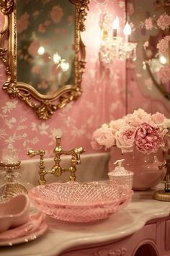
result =
[[[81,79],[86,64],[86,52],[81,32],[85,30],[84,21],[89,0],[69,1],[75,5],[74,85],[64,85],[53,95],[42,95],[31,85],[17,82],[17,0],[0,0],[0,11],[4,14],[4,27],[0,32],[0,59],[6,73],[6,82],[2,89],[6,90],[10,98],[17,97],[33,108],[40,119],[50,119],[58,108],[63,108],[66,103],[78,98],[82,92]],[[2,39],[6,33],[9,50],[2,46]]]

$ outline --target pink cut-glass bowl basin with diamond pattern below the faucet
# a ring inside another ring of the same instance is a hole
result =
[[[86,223],[107,218],[130,202],[133,192],[107,183],[52,183],[30,190],[33,205],[61,221]]]

